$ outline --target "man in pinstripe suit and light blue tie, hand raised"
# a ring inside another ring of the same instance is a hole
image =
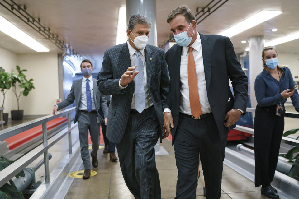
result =
[[[169,88],[164,51],[147,45],[151,22],[131,16],[124,44],[104,53],[97,85],[112,95],[107,138],[116,143],[121,171],[135,198],[161,198],[154,146],[162,133],[163,107]],[[133,81],[134,79],[134,81]]]

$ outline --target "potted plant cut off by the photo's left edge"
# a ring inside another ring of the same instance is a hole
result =
[[[3,95],[3,102],[2,106],[4,106],[5,94],[7,90],[10,89],[12,81],[10,79],[10,74],[5,72],[4,68],[0,67],[0,91]],[[4,124],[7,124],[8,121],[8,113],[3,113],[3,120],[5,121]]]

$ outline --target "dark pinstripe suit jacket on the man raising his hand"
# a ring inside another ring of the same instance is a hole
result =
[[[159,120],[159,136],[162,142],[163,108],[170,86],[164,51],[148,44],[145,48],[145,63],[150,98]],[[97,86],[103,95],[112,95],[108,109],[107,138],[114,143],[121,141],[126,126],[130,125],[127,123],[134,93],[134,81],[125,89],[119,89],[121,75],[128,67],[131,67],[131,60],[127,42],[105,50]]]

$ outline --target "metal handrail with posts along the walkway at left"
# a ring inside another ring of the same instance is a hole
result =
[[[50,183],[50,168],[49,168],[49,152],[48,149],[57,143],[60,139],[68,134],[69,136],[69,154],[72,153],[72,137],[71,131],[78,126],[78,124],[71,125],[71,112],[75,111],[75,107],[66,109],[64,111],[59,111],[56,115],[50,114],[42,118],[32,120],[14,127],[7,128],[0,131],[0,140],[4,140],[8,137],[12,137],[28,129],[36,127],[42,124],[43,128],[43,144],[37,146],[35,149],[31,150],[26,155],[22,156],[20,159],[0,171],[0,187],[7,183],[13,176],[18,174],[21,170],[25,169],[30,163],[36,160],[40,155],[44,153],[44,165],[45,165],[45,181]],[[48,139],[47,136],[47,122],[55,118],[68,115],[68,129],[57,133],[55,136]]]

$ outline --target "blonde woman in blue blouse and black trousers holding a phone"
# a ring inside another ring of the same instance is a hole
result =
[[[254,90],[258,105],[254,117],[255,187],[268,198],[279,198],[271,186],[278,160],[284,128],[284,103],[291,98],[299,112],[299,95],[290,69],[278,65],[278,53],[273,46],[262,51],[263,72],[255,79]]]

